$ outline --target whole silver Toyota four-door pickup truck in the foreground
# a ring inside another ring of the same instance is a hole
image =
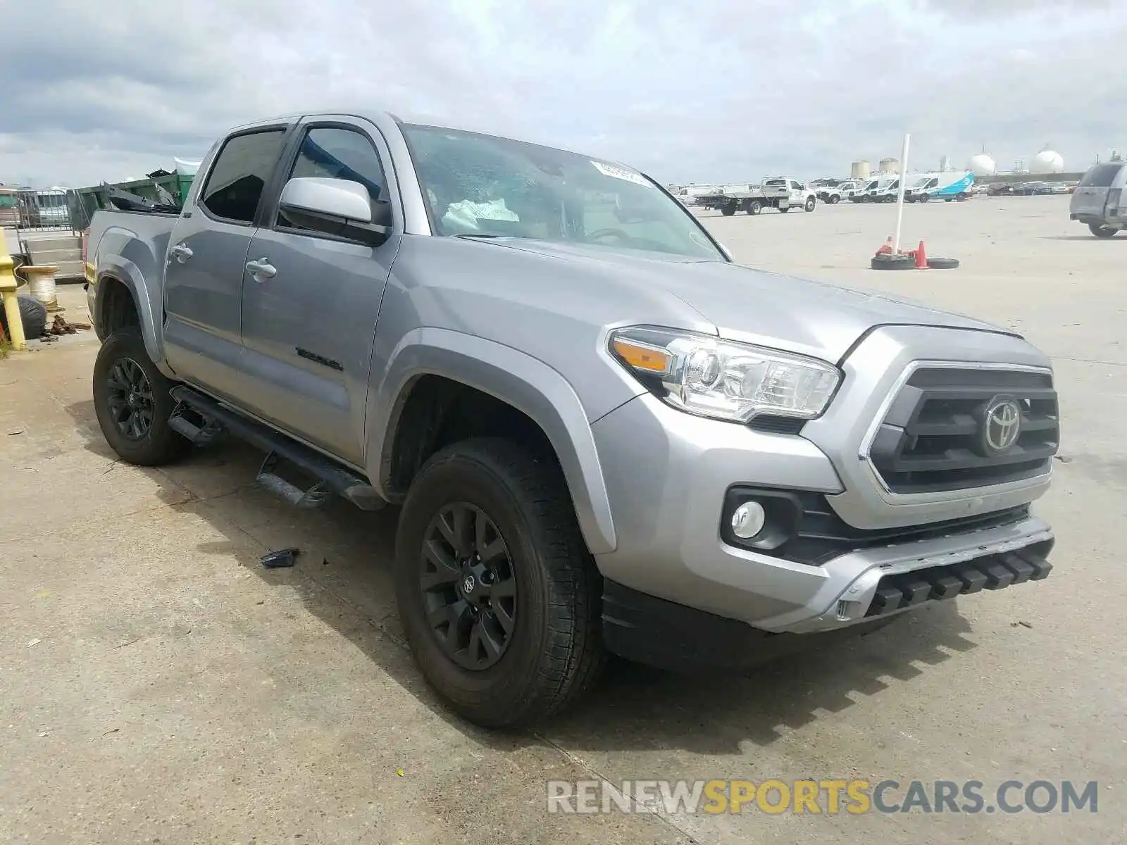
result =
[[[94,399],[136,464],[230,435],[300,507],[401,507],[397,601],[470,720],[606,653],[743,670],[1045,578],[1048,359],[740,267],[622,164],[387,114],[241,126],[98,212]]]

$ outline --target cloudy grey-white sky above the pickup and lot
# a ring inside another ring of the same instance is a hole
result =
[[[667,183],[1127,150],[1127,0],[3,0],[0,181],[82,186],[225,127],[385,107]],[[1118,69],[1118,70],[1117,70]]]

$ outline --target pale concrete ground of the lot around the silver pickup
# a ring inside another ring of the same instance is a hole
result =
[[[966,311],[1054,358],[1040,584],[926,608],[748,678],[620,667],[535,733],[444,711],[402,644],[394,513],[303,514],[238,444],[143,470],[90,402],[90,332],[0,362],[0,842],[1122,842],[1127,237],[1067,197],[909,206],[951,272],[879,274],[887,206],[708,216],[737,260]],[[781,278],[780,284],[786,284]],[[68,318],[81,291],[63,288]],[[296,545],[299,563],[258,557]],[[1100,782],[1099,812],[549,816],[544,781]]]

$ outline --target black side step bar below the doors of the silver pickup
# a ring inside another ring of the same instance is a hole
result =
[[[317,507],[329,493],[336,493],[361,510],[379,510],[388,502],[369,482],[356,472],[346,469],[325,455],[311,450],[284,434],[275,432],[261,422],[243,417],[241,413],[220,404],[197,390],[184,384],[171,390],[172,399],[186,406],[203,417],[204,425],[198,426],[180,413],[174,412],[170,425],[179,434],[193,443],[210,443],[219,427],[225,428],[241,441],[268,452],[258,480],[264,487],[278,493],[282,498],[298,507]],[[274,470],[278,461],[284,460],[298,466],[303,472],[319,479],[310,490],[301,490]]]

